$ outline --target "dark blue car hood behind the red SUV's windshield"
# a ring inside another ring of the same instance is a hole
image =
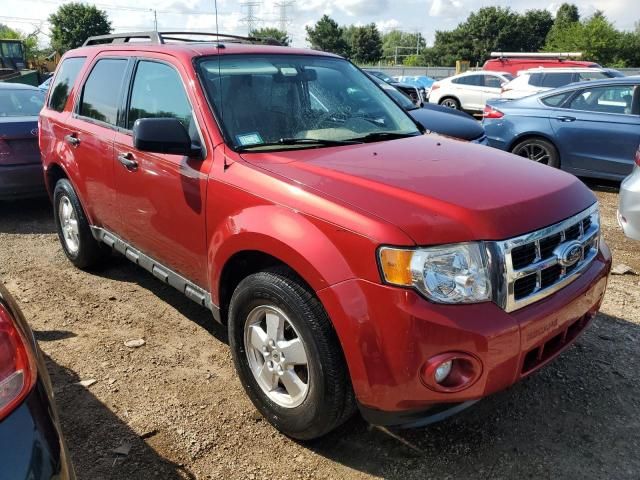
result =
[[[462,140],[476,140],[484,135],[484,128],[473,117],[447,107],[434,106],[439,108],[415,108],[408,113],[424,128],[441,135]]]

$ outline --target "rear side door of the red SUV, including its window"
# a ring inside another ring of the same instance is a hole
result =
[[[129,60],[98,56],[85,76],[63,132],[74,157],[76,186],[94,225],[118,228],[115,205],[113,139]]]

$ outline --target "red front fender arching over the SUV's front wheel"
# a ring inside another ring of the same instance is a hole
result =
[[[211,299],[216,305],[222,270],[243,251],[277,258],[314,291],[377,275],[376,245],[370,239],[280,205],[258,205],[226,217],[210,238]]]

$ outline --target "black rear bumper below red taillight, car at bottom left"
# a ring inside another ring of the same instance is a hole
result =
[[[71,459],[43,379],[0,422],[0,478],[73,480]]]

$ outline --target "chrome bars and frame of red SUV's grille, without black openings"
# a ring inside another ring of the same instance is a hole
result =
[[[592,223],[589,228],[584,231],[582,222],[588,217],[591,217]],[[558,258],[555,256],[545,260],[540,259],[540,241],[559,233],[561,236],[561,242],[564,242],[566,241],[564,235],[565,230],[575,225],[579,225],[580,229],[580,234],[577,240],[582,244],[583,247],[582,258],[579,260],[576,268],[573,271],[567,274],[566,269],[563,268],[561,276],[556,283],[546,288],[541,288],[542,270],[557,265],[559,262]],[[519,237],[495,242],[500,255],[504,259],[504,266],[502,271],[504,275],[503,278],[505,288],[499,298],[496,299],[498,305],[504,308],[507,312],[513,312],[514,310],[518,310],[539,300],[542,300],[543,298],[548,297],[549,295],[569,285],[591,265],[591,262],[593,262],[593,260],[598,255],[599,234],[600,222],[598,217],[598,203],[596,202],[586,210],[578,213],[577,215],[574,215],[573,217],[563,220],[562,222],[556,223],[555,225],[551,225],[549,227],[537,230],[535,232],[527,233]],[[536,258],[534,262],[521,269],[514,269],[511,252],[517,247],[529,244],[534,244],[536,249]],[[584,251],[585,247],[587,246],[592,246],[592,248],[590,249],[589,254],[585,257]],[[516,280],[533,274],[536,275],[535,289],[530,295],[516,300]]]

